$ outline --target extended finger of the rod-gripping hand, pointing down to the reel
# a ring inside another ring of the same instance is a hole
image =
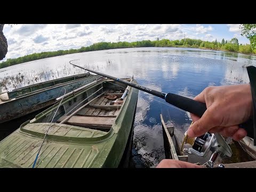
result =
[[[187,132],[189,137],[194,138],[201,136],[217,126],[216,121],[213,120],[213,113],[211,111],[211,107],[208,108],[203,116],[189,127]]]

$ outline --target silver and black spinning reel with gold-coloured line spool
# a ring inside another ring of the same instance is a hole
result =
[[[228,143],[225,139],[218,133],[205,133],[196,138],[190,138],[187,135],[187,131],[185,132],[185,138],[182,143],[182,147],[184,144],[189,143],[192,148],[185,148],[183,151],[196,155],[198,157],[206,157],[208,153],[211,151],[212,155],[205,163],[206,167],[213,168],[214,163],[217,161],[219,157],[231,157],[232,150],[228,146]],[[181,150],[182,150],[181,147]],[[219,167],[223,168],[223,164],[219,164]]]

